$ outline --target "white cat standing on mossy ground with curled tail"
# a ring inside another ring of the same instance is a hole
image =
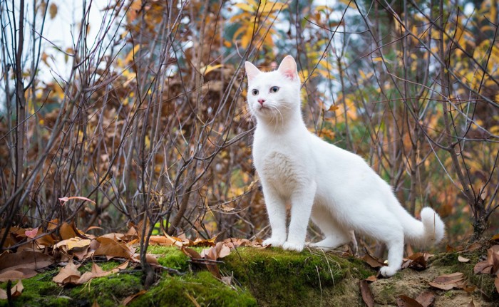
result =
[[[264,244],[302,251],[310,217],[324,239],[309,246],[333,249],[349,243],[351,231],[384,242],[389,266],[401,268],[403,242],[436,244],[445,226],[433,209],[411,217],[387,184],[367,163],[307,130],[300,110],[300,80],[292,56],[277,71],[264,73],[246,62],[247,102],[257,119],[254,166],[261,178],[272,236]],[[289,234],[286,202],[291,203]]]

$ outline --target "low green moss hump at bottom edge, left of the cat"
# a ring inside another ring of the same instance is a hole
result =
[[[163,276],[157,286],[129,306],[257,306],[247,291],[231,288],[208,271],[185,276]]]

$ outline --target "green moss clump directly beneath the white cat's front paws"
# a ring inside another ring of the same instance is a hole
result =
[[[335,286],[347,273],[362,274],[345,269],[346,259],[307,250],[240,248],[223,260],[222,271],[246,286],[259,306],[319,305],[322,288]]]

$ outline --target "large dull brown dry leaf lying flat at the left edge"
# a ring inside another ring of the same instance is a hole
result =
[[[0,255],[0,273],[3,273],[6,269],[43,269],[53,263],[52,256],[38,251],[22,250],[17,253],[4,253]]]

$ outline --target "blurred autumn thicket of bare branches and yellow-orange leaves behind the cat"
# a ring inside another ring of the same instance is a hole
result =
[[[9,227],[55,219],[266,237],[242,64],[287,54],[311,132],[364,157],[416,217],[436,209],[449,244],[497,233],[496,0],[127,0],[100,19],[83,1],[57,46],[43,26],[63,5],[1,1],[3,248]]]

